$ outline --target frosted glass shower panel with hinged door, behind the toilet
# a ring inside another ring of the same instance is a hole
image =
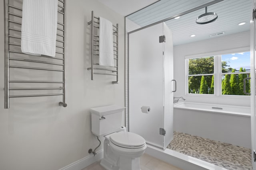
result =
[[[128,55],[129,131],[165,149],[173,138],[172,32],[159,23],[129,33]]]

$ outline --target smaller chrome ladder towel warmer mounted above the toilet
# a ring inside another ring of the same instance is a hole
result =
[[[95,21],[95,20],[96,21]],[[110,68],[102,68],[102,67],[95,67],[94,65],[99,65],[98,63],[94,63],[94,56],[99,56],[98,52],[99,49],[99,36],[95,35],[97,31],[94,28],[100,28],[100,18],[94,16],[94,11],[92,11],[92,20],[88,22],[88,25],[92,24],[91,26],[91,67],[87,68],[87,70],[91,70],[91,80],[94,78],[94,74],[105,74],[105,75],[112,75],[116,76],[116,81],[112,81],[112,84],[118,84],[118,23],[113,25],[113,47],[114,47],[114,60],[115,66],[114,69]],[[115,41],[116,40],[116,41]],[[101,70],[101,72],[94,72],[94,70]]]

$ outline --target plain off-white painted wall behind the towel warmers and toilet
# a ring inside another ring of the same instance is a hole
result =
[[[119,23],[119,84],[111,83],[114,76],[95,75],[94,80],[90,80],[90,70],[86,69],[90,67],[90,25],[87,22],[91,20],[92,10],[95,16]],[[12,98],[10,109],[4,109],[3,5],[0,12],[0,169],[57,170],[88,156],[88,149],[98,145],[91,133],[89,109],[125,105],[124,17],[97,0],[67,0],[68,106],[58,106],[62,97],[53,96]]]

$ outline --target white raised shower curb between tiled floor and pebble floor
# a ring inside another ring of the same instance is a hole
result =
[[[162,150],[150,145],[147,145],[146,154],[149,154],[183,170],[227,170],[220,166],[210,164],[174,150]]]

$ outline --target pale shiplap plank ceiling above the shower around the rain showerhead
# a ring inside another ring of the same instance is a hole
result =
[[[211,1],[212,0],[160,0],[127,18],[143,27]],[[179,19],[166,21],[166,24],[173,32],[174,45],[181,45],[250,30],[252,0],[224,0],[208,6],[207,11],[216,12],[218,14],[218,19],[212,23],[204,25],[196,24],[196,18],[205,13],[205,9],[202,8],[181,16]],[[238,23],[241,22],[246,23],[239,26]],[[209,36],[210,34],[223,31],[224,35],[215,37]],[[196,36],[190,37],[192,34]]]

